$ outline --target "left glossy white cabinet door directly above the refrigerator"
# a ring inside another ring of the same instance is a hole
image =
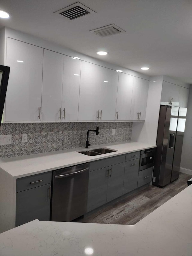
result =
[[[161,104],[169,106],[179,106],[180,86],[163,81],[161,92]]]

